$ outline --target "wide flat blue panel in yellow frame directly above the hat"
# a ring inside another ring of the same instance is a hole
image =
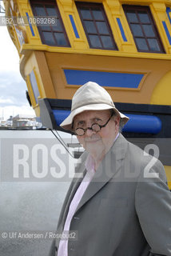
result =
[[[97,82],[101,86],[137,89],[144,74],[126,74],[114,72],[64,70],[69,85],[81,86],[85,82]]]

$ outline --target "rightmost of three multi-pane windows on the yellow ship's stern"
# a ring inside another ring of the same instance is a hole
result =
[[[130,30],[141,52],[165,53],[148,6],[123,6]]]

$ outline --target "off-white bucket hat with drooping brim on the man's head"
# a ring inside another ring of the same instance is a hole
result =
[[[70,115],[61,123],[61,127],[72,130],[74,117],[85,110],[113,109],[123,120],[123,125],[129,118],[117,110],[108,92],[96,82],[86,82],[73,96]]]

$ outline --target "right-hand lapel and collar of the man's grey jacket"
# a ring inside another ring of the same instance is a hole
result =
[[[87,190],[85,190],[85,194],[83,194],[82,199],[78,204],[76,212],[85,204],[85,202],[89,201],[94,194],[97,194],[97,192],[109,182],[113,175],[117,174],[118,170],[121,169],[120,160],[125,158],[127,144],[128,142],[120,134],[117,141],[113,143],[112,148],[105,154],[105,157],[101,161],[92,181],[89,183]]]

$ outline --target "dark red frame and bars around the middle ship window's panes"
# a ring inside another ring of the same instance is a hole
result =
[[[104,6],[102,5],[102,3],[98,3],[98,2],[75,2],[76,6],[77,6],[77,9],[78,9],[78,14],[79,14],[79,17],[81,19],[81,22],[82,22],[82,26],[84,28],[84,31],[85,31],[85,35],[86,35],[86,38],[87,38],[87,41],[89,42],[89,48],[90,49],[100,49],[100,50],[118,50],[117,48],[117,43],[115,42],[114,40],[114,37],[113,37],[113,32],[109,26],[109,20],[107,18],[107,15],[105,14],[105,9],[104,9]],[[109,34],[100,34],[98,32],[98,29],[97,29],[97,24],[96,22],[101,22],[102,20],[96,20],[96,19],[84,19],[82,17],[82,12],[81,12],[81,7],[88,7],[89,10],[90,10],[90,13],[91,13],[91,17],[93,18],[92,16],[92,10],[91,8],[92,7],[97,7],[97,8],[100,8],[101,10],[101,13],[103,15],[103,22],[105,22],[105,26],[107,26],[107,29],[108,29],[108,32]],[[89,21],[89,22],[93,22],[95,28],[96,28],[96,31],[97,31],[97,34],[94,34],[94,33],[88,33],[88,31],[86,30],[86,27],[85,27],[85,21]],[[91,42],[90,42],[90,39],[89,39],[89,34],[90,35],[97,35],[100,42],[101,42],[101,46],[102,47],[95,47],[95,46],[92,46]],[[102,42],[101,40],[101,36],[109,36],[109,38],[111,39],[112,41],[112,44],[113,44],[113,48],[105,48],[104,47],[104,43]]]

